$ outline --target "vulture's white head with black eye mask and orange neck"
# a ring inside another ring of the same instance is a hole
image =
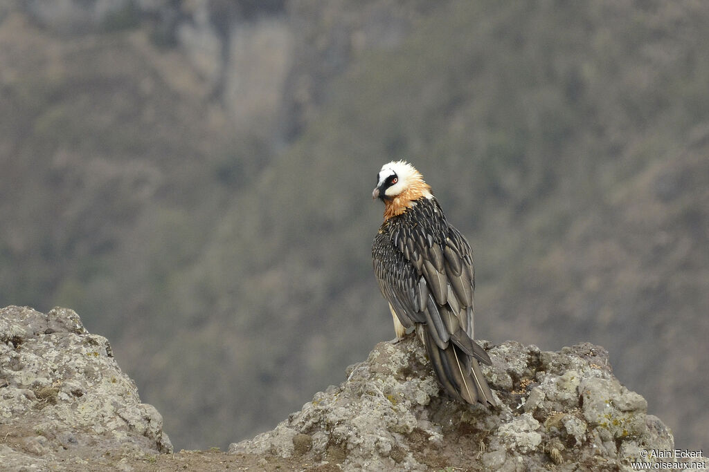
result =
[[[403,213],[411,202],[419,198],[432,198],[430,186],[423,175],[406,161],[391,161],[381,166],[376,175],[372,198],[381,198],[386,204],[384,215]]]

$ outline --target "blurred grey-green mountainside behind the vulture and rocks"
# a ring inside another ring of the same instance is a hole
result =
[[[4,0],[0,305],[75,309],[177,449],[393,336],[382,163],[476,253],[476,333],[605,346],[709,444],[709,3]]]

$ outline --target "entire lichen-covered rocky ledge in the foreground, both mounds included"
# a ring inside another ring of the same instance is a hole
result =
[[[642,451],[674,449],[644,398],[615,379],[602,347],[481,343],[496,410],[445,396],[423,347],[408,338],[379,343],[340,386],[274,430],[231,444],[230,454],[161,454],[172,452],[162,417],[140,402],[106,338],[69,309],[9,306],[0,309],[0,468],[616,471],[646,460]]]

